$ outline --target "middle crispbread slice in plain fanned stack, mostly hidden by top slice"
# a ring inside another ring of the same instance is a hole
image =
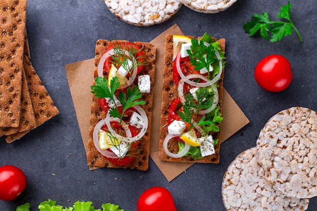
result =
[[[21,112],[20,112],[20,123],[17,128],[6,127],[0,128],[0,136],[8,136],[18,132],[24,132],[34,129],[36,126],[33,106],[29,89],[27,86],[25,71],[22,71],[22,93],[21,93]]]

